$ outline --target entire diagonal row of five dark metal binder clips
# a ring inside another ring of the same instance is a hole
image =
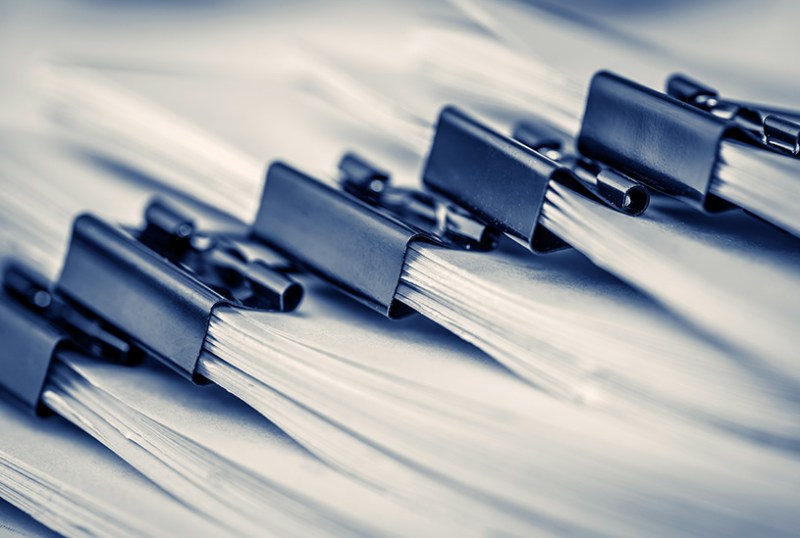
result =
[[[685,77],[660,93],[601,72],[574,143],[530,121],[507,137],[444,109],[422,189],[395,187],[347,154],[335,181],[272,164],[258,216],[239,234],[200,231],[163,201],[147,208],[141,229],[79,216],[57,282],[18,265],[5,271],[0,385],[46,411],[40,396],[65,349],[121,363],[148,354],[203,382],[195,370],[214,310],[291,311],[302,298],[297,269],[402,317],[410,308],[395,293],[411,242],[486,251],[504,234],[534,253],[568,246],[541,224],[554,183],[632,217],[647,209],[648,188],[722,209],[709,183],[725,139],[796,157],[800,117],[726,101]],[[288,261],[254,259],[252,242]]]

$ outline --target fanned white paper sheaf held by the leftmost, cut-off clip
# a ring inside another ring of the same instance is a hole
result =
[[[238,534],[458,532],[404,509],[311,458],[214,387],[148,365],[65,357],[45,402],[199,513]],[[369,514],[369,515],[368,515]]]

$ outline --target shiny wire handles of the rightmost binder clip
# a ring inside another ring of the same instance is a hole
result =
[[[771,149],[793,156],[800,154],[798,112],[723,99],[713,88],[685,75],[670,77],[667,94],[718,118],[736,122]]]

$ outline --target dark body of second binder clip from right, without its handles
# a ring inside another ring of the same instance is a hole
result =
[[[566,167],[455,107],[439,115],[422,180],[536,253],[568,246],[539,224],[550,181],[584,191]]]

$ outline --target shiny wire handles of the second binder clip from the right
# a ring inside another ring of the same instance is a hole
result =
[[[541,122],[522,121],[514,127],[514,139],[572,170],[599,199],[621,213],[643,214],[650,195],[641,183],[568,149],[566,137]]]

